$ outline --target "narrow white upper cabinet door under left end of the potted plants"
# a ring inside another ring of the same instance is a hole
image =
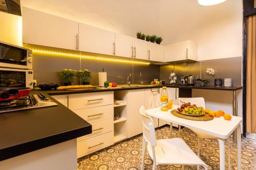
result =
[[[147,41],[133,38],[134,58],[147,60]]]

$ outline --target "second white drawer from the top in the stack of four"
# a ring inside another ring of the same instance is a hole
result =
[[[87,122],[92,123],[107,118],[113,119],[114,107],[113,105],[106,105],[88,109],[73,110],[73,112],[82,117],[84,120],[87,120]]]

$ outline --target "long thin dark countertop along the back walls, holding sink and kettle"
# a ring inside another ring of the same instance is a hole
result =
[[[66,91],[66,90],[47,90],[44,91],[49,95],[61,95],[61,94],[77,94],[77,93],[92,93],[92,92],[103,92],[103,91],[117,91],[117,90],[136,90],[136,89],[146,89],[146,88],[159,88],[163,85],[154,85],[154,86],[131,86],[131,87],[122,87],[116,89],[98,89],[95,88],[94,90],[86,90],[86,91]],[[173,87],[173,88],[186,88],[186,89],[206,89],[206,90],[227,90],[227,91],[235,91],[242,89],[242,86],[232,86],[232,87],[215,87],[215,86],[185,86],[185,85],[170,85],[165,84],[166,87]]]

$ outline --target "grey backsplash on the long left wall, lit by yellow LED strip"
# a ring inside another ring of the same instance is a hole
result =
[[[24,46],[31,49],[34,48],[48,51],[103,56],[100,54],[82,53],[39,45],[24,44]],[[117,61],[104,61],[88,58],[33,53],[34,79],[37,80],[37,83],[56,82],[62,85],[59,74],[60,70],[64,68],[71,68],[75,70],[89,69],[92,72],[92,85],[98,85],[98,72],[102,72],[102,68],[104,68],[104,72],[107,72],[108,81],[116,82],[117,84],[126,84],[128,74],[132,74],[132,78],[130,78],[131,82],[140,83],[140,72],[142,72],[142,81],[144,84],[151,83],[151,81],[154,79],[160,78],[160,66],[154,64],[133,64]],[[75,78],[73,85],[77,84],[80,84],[80,80]]]

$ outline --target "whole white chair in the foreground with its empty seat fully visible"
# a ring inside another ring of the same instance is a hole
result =
[[[207,169],[207,165],[188,147],[181,138],[156,140],[153,119],[146,115],[144,106],[141,106],[140,113],[143,119],[143,144],[141,169],[144,169],[144,157],[147,143],[147,151],[153,159],[153,170],[159,164],[201,165]]]

